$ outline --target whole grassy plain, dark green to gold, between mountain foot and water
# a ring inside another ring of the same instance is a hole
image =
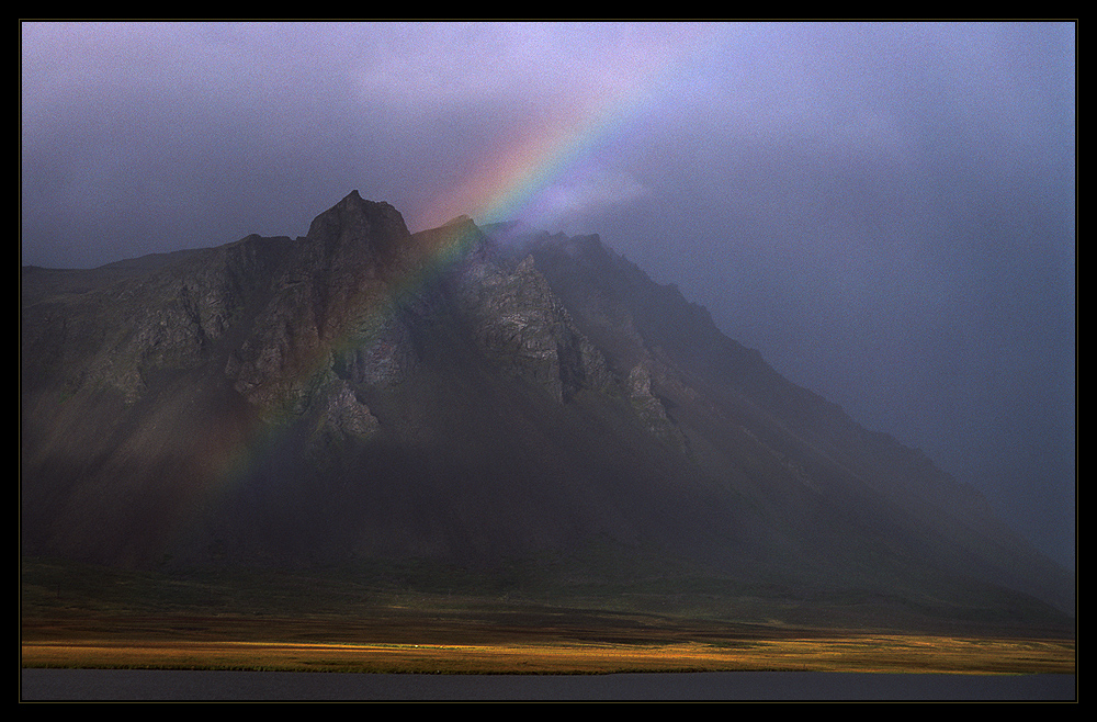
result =
[[[1063,630],[848,630],[330,578],[179,579],[24,563],[23,667],[431,674],[1075,673]],[[443,580],[443,583],[446,580]],[[450,579],[449,582],[453,582]],[[579,601],[579,600],[576,600]],[[974,629],[974,628],[972,628]]]

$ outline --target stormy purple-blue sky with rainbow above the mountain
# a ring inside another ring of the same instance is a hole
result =
[[[304,235],[351,190],[598,233],[1075,548],[1075,25],[35,23],[22,264]]]

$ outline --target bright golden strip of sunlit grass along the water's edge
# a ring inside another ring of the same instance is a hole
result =
[[[925,635],[750,640],[742,644],[331,644],[50,640],[22,645],[24,667],[437,674],[810,670],[1075,673],[1074,643]]]

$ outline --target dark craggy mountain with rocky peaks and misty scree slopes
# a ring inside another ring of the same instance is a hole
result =
[[[355,191],[304,237],[27,267],[21,292],[25,555],[534,560],[946,616],[1073,611],[1071,576],[975,492],[598,236],[466,217],[411,234]]]

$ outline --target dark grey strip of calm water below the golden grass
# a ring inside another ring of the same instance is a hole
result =
[[[371,675],[23,669],[21,699],[289,701],[1075,701],[1075,675],[715,672]]]

